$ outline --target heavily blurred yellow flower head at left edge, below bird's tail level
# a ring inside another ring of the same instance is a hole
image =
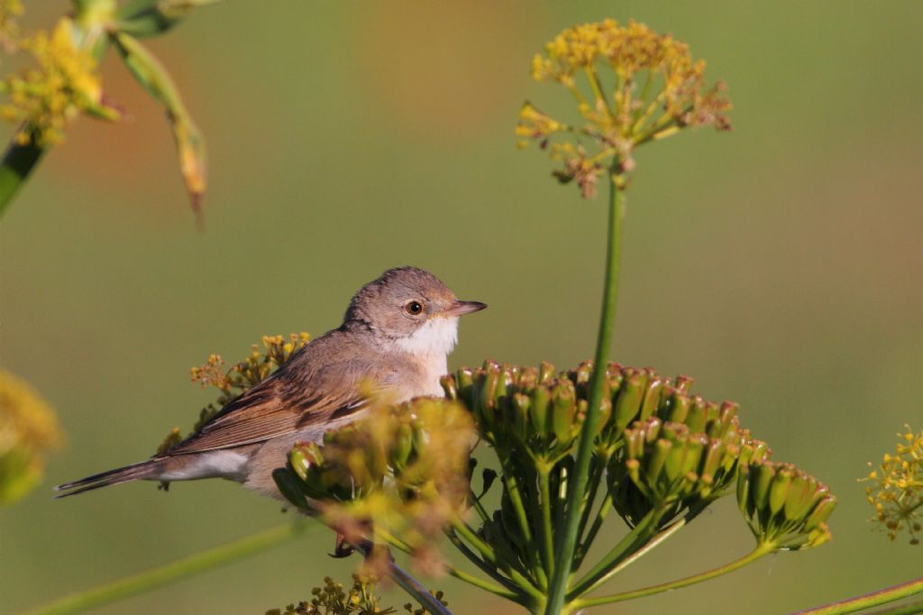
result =
[[[42,479],[44,455],[61,441],[54,412],[26,382],[0,371],[0,504]]]

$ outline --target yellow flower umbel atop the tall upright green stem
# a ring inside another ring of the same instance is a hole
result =
[[[532,76],[569,89],[582,124],[558,122],[527,102],[516,127],[518,145],[534,140],[545,148],[552,136],[570,138],[569,148],[551,149],[552,160],[564,166],[555,175],[562,182],[577,180],[582,195],[593,196],[594,178],[607,167],[624,181],[637,146],[686,126],[730,127],[725,87],[719,82],[708,88],[704,71],[703,61],[692,60],[689,45],[636,21],[574,26],[548,42],[545,54],[535,55]]]

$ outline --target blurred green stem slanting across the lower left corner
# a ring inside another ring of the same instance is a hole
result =
[[[78,594],[59,598],[41,607],[27,610],[20,615],[78,613],[126,597],[135,596],[163,585],[169,585],[174,581],[186,579],[195,574],[208,572],[224,564],[242,560],[272,547],[277,547],[290,538],[303,534],[306,526],[306,522],[296,520],[293,523],[271,527],[253,536],[240,538],[220,547],[195,553],[143,573],[127,576],[112,583],[97,585]]]

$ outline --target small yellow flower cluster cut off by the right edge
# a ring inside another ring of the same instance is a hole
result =
[[[897,435],[894,455],[885,453],[881,465],[864,479],[871,483],[866,497],[875,507],[871,521],[881,525],[888,538],[906,531],[910,544],[918,545],[923,533],[923,432],[906,426],[906,432]]]

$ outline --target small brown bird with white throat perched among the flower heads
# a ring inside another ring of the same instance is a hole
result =
[[[222,478],[282,498],[272,470],[298,442],[356,420],[369,386],[395,402],[442,396],[439,377],[458,338],[459,316],[487,307],[459,301],[431,273],[390,269],[355,293],[343,324],[221,409],[162,455],[55,487],[57,497],[129,480]]]

